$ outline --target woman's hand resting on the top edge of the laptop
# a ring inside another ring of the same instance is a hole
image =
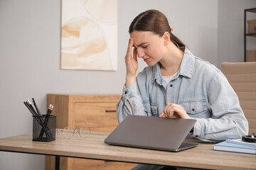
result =
[[[191,119],[189,115],[186,113],[184,108],[180,105],[174,103],[167,103],[164,111],[159,115],[160,118],[184,118]]]

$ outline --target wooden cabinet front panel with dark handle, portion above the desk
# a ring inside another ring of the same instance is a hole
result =
[[[87,125],[92,131],[112,132],[117,127],[117,103],[75,103],[75,128]]]

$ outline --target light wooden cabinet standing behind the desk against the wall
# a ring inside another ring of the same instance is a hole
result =
[[[87,125],[92,131],[112,132],[117,127],[117,102],[119,95],[62,95],[48,94],[47,106],[54,106],[52,115],[57,115],[56,128]],[[60,157],[60,169],[131,169],[135,164],[105,162],[92,159]],[[54,169],[55,158],[46,156],[46,169]]]

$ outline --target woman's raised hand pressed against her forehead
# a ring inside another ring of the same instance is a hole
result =
[[[131,86],[136,81],[138,61],[137,61],[137,50],[133,50],[133,55],[132,55],[133,45],[134,45],[134,41],[132,40],[132,38],[130,38],[129,44],[127,47],[127,54],[124,57],[125,64],[127,67],[126,84],[125,84],[126,87]]]

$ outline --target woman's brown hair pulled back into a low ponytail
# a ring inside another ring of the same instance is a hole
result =
[[[164,35],[165,32],[168,32],[170,34],[171,42],[173,42],[176,47],[186,47],[181,40],[171,33],[171,27],[169,26],[169,22],[166,16],[164,16],[164,13],[157,10],[152,9],[144,11],[134,18],[129,26],[129,33],[132,33],[134,30],[151,31],[158,34],[160,37]]]

